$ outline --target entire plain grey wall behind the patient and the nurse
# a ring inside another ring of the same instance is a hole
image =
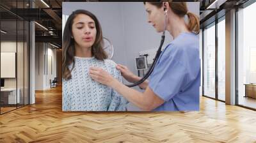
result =
[[[199,2],[190,2],[188,10],[199,17]],[[102,27],[103,36],[113,43],[115,63],[124,64],[137,74],[134,57],[139,52],[157,49],[161,33],[147,22],[147,13],[142,2],[64,2],[63,15],[70,15],[74,10],[88,10],[96,15]],[[63,23],[65,24],[65,23]],[[163,48],[173,40],[166,32]],[[124,83],[127,84],[124,80]],[[134,89],[140,90],[138,87]],[[139,110],[129,105],[130,110]]]

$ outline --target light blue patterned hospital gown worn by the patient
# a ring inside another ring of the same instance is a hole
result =
[[[72,79],[63,79],[63,111],[124,111],[126,101],[111,87],[93,80],[88,74],[90,66],[98,66],[122,82],[120,71],[109,59],[97,60],[95,57],[74,57],[75,66]],[[69,66],[72,68],[72,64]]]

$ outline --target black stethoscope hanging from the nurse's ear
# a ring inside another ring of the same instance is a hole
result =
[[[148,72],[145,74],[144,77],[142,77],[138,82],[134,83],[134,84],[130,84],[130,85],[126,85],[128,87],[134,87],[134,86],[138,86],[139,84],[142,84],[146,79],[148,79],[148,77],[150,76],[150,74],[153,72],[155,66],[156,66],[156,63],[157,63],[157,60],[159,59],[159,56],[161,54],[161,49],[162,49],[162,46],[163,46],[163,43],[164,43],[164,38],[165,38],[165,31],[166,31],[166,22],[167,22],[167,11],[166,8],[164,7],[164,31],[163,31],[163,34],[161,36],[161,43],[159,45],[159,48],[157,49],[157,52],[156,52],[156,56],[154,58],[154,61],[152,63],[152,66],[150,66]]]

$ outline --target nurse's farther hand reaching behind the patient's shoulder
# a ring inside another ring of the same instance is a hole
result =
[[[136,75],[134,75],[127,66],[122,64],[117,64],[116,69],[120,70],[121,75],[126,79],[128,82],[136,82]]]

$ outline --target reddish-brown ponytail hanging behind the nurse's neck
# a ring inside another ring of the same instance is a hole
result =
[[[200,22],[199,18],[191,12],[187,13],[188,15],[188,29],[189,31],[193,31],[194,33],[198,34],[200,32]]]

